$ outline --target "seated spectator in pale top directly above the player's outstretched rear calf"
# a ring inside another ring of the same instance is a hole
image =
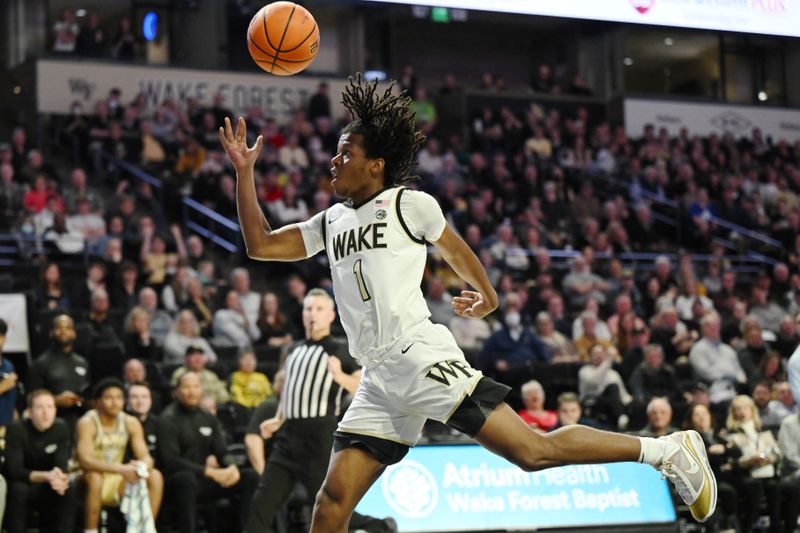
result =
[[[594,403],[611,425],[624,430],[629,420],[626,406],[633,398],[628,394],[622,377],[611,368],[612,359],[613,356],[601,344],[589,349],[589,363],[578,371],[578,394],[581,403]]]

